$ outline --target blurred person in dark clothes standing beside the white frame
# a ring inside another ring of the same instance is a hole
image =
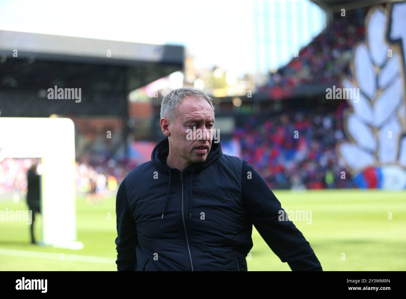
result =
[[[31,244],[37,244],[34,238],[34,221],[35,213],[40,211],[40,176],[37,174],[37,163],[32,164],[27,171],[27,204],[28,208],[32,211],[32,222],[30,224]]]

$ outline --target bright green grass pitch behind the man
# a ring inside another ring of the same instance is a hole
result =
[[[324,271],[405,271],[406,191],[275,190],[286,210],[311,210],[312,223],[294,224],[310,242]],[[25,201],[0,201],[0,210],[26,210]],[[29,226],[0,221],[0,271],[116,271],[115,198],[76,202],[80,250],[29,244]],[[391,213],[392,219],[388,219]],[[110,217],[110,216],[111,217]],[[36,236],[40,236],[40,217]],[[38,238],[38,237],[37,237]],[[253,228],[249,271],[290,271]]]

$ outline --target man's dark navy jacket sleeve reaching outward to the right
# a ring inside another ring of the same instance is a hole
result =
[[[292,271],[323,271],[309,242],[293,222],[279,221],[279,216],[285,215],[281,203],[246,161],[242,162],[241,188],[248,218],[281,261],[287,262]]]

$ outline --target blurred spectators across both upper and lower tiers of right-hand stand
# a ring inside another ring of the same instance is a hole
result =
[[[349,60],[356,43],[365,39],[368,8],[338,12],[328,26],[297,57],[270,73],[258,92],[339,84],[349,75]],[[345,15],[343,15],[345,13]],[[292,55],[293,56],[293,55]],[[336,107],[337,108],[337,107]],[[319,189],[355,187],[336,152],[343,138],[343,105],[283,109],[265,121],[252,117],[238,128],[242,158],[252,164],[271,188]],[[297,134],[295,134],[295,132]]]

